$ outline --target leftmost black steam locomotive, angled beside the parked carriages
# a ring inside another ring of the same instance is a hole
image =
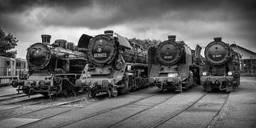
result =
[[[50,44],[50,35],[42,35],[42,43],[31,45],[26,54],[29,75],[27,80],[12,82],[18,91],[59,95],[75,92],[75,80],[87,63],[86,55],[73,43],[59,39]]]

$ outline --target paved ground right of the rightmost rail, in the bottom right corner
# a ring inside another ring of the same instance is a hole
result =
[[[242,77],[213,127],[256,127],[256,78]]]

